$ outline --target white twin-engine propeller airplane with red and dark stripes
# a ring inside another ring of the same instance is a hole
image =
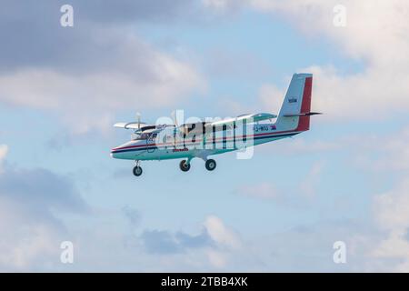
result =
[[[135,176],[142,175],[140,162],[145,160],[183,158],[179,167],[187,172],[192,159],[197,157],[205,161],[208,171],[213,171],[216,162],[209,156],[245,150],[249,146],[258,146],[309,130],[310,116],[321,114],[311,112],[312,86],[312,74],[294,74],[278,116],[269,113],[248,114],[183,125],[178,125],[174,118],[173,124],[149,125],[141,122],[140,115],[137,115],[134,122],[114,125],[132,129],[134,134],[130,141],[113,148],[111,156],[134,160]],[[275,119],[274,123],[272,119]]]

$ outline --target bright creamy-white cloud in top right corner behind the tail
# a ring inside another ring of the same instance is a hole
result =
[[[248,3],[258,11],[284,15],[306,35],[326,36],[346,56],[364,62],[364,71],[353,75],[343,75],[331,65],[299,68],[314,73],[313,107],[325,112],[324,118],[377,118],[393,111],[409,111],[407,1],[345,0],[345,27],[333,24],[333,8],[338,1]]]

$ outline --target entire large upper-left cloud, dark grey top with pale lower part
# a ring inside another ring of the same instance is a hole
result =
[[[189,93],[203,90],[202,75],[187,60],[146,43],[119,16],[128,9],[124,17],[135,23],[147,15],[173,14],[182,4],[164,3],[173,8],[162,11],[151,9],[158,5],[145,1],[115,3],[121,8],[112,10],[114,5],[99,1],[75,2],[75,26],[63,28],[58,3],[11,2],[7,14],[0,17],[0,35],[5,40],[0,54],[0,102],[51,113],[82,134],[111,129],[121,110],[185,100]],[[20,33],[15,35],[6,27]]]

